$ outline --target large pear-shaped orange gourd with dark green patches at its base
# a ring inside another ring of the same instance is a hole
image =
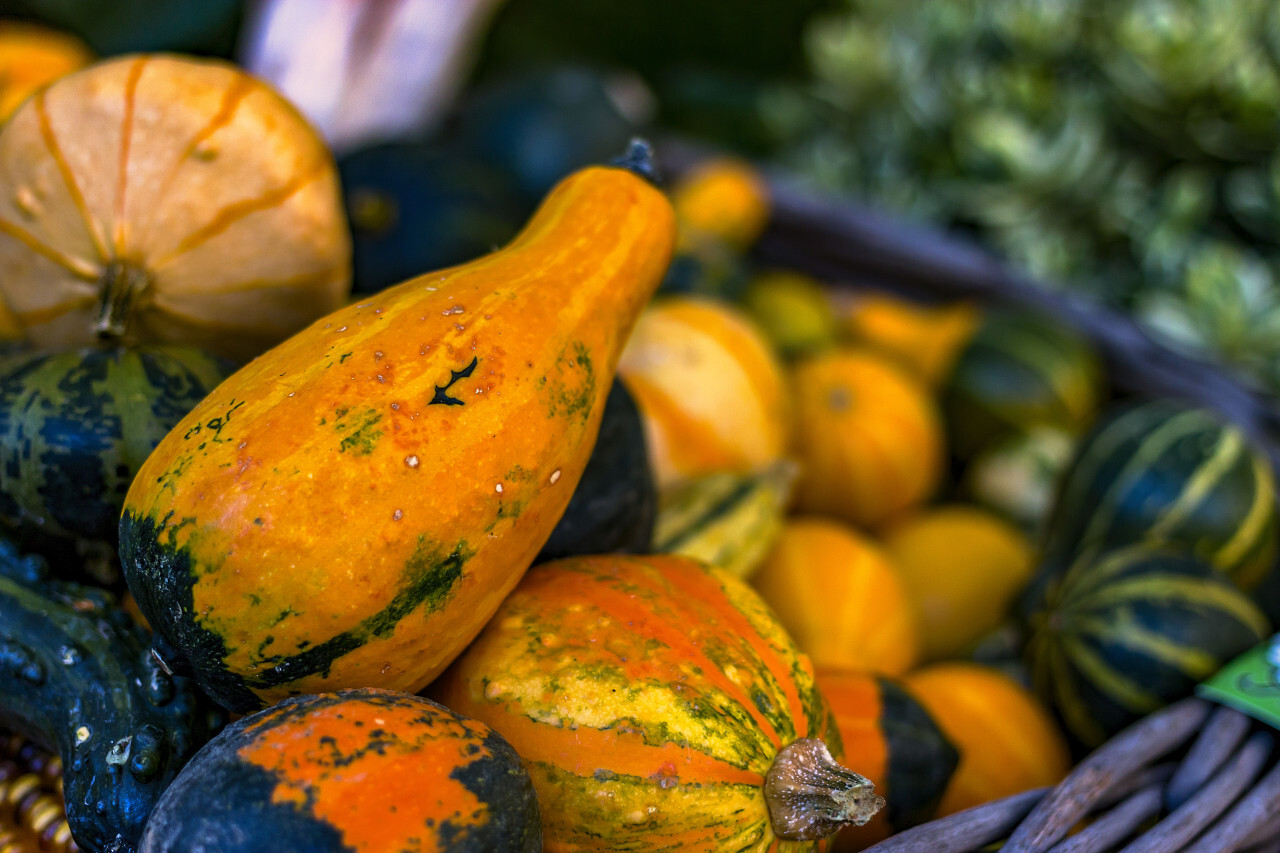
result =
[[[426,685],[564,511],[672,242],[660,192],[586,169],[508,247],[324,318],[219,386],[120,521],[165,660],[237,710]]]

